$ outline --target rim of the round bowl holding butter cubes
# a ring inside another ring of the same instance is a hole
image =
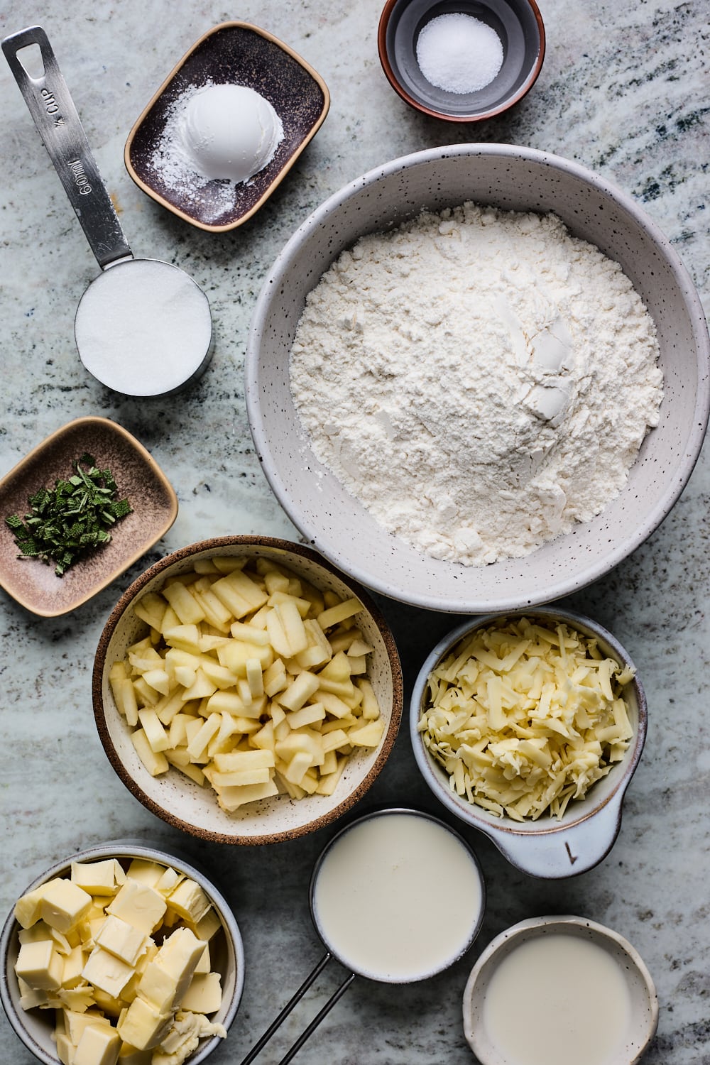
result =
[[[106,842],[96,843],[92,847],[82,848],[82,850],[76,851],[73,854],[67,855],[65,858],[60,858],[53,862],[49,868],[33,879],[33,881],[22,890],[21,895],[26,895],[28,891],[34,890],[34,888],[44,884],[52,876],[66,872],[72,862],[94,862],[106,859],[109,857],[143,857],[153,862],[160,862],[165,865],[170,865],[171,867],[178,869],[178,871],[184,872],[192,880],[195,880],[209,896],[210,902],[217,911],[225,937],[234,951],[234,990],[225,1013],[225,1017],[220,1021],[220,1023],[229,1030],[236,1016],[242,1001],[242,996],[244,994],[244,941],[242,939],[242,933],[236,917],[234,916],[234,913],[232,912],[232,908],[226,898],[213,881],[210,880],[208,874],[198,866],[193,865],[191,859],[183,857],[180,853],[176,853],[172,850],[163,850],[162,847],[151,845],[143,839],[126,837],[109,840]],[[39,1046],[39,1044],[37,1044],[32,1037],[29,1029],[22,1023],[22,1014],[24,1011],[21,1009],[18,1010],[13,1001],[7,980],[7,955],[10,944],[19,930],[19,924],[15,919],[14,911],[15,907],[13,906],[5,918],[2,932],[0,933],[0,1002],[2,1003],[5,1016],[7,1017],[15,1034],[24,1044],[28,1050],[30,1050],[38,1061],[44,1062],[45,1065],[60,1065],[60,1060],[56,1054],[48,1054],[44,1047]],[[212,1035],[207,1039],[201,1041],[201,1045],[193,1051],[187,1059],[188,1065],[199,1065],[199,1063],[204,1061],[204,1059],[221,1042],[222,1039],[217,1035]]]

